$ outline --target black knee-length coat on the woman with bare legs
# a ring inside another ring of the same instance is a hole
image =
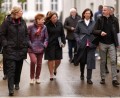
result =
[[[59,59],[62,59],[62,47],[60,47],[60,45],[59,45],[58,38],[60,37],[61,38],[61,42],[64,45],[66,44],[63,25],[59,21],[57,21],[55,24],[53,24],[51,21],[49,21],[46,24],[46,27],[47,27],[49,39],[48,39],[48,46],[45,49],[45,59],[46,60],[53,59],[53,58],[49,57],[49,55],[54,54],[57,50],[58,50],[58,52],[56,52],[56,54],[59,55]],[[53,51],[53,50],[56,50],[56,51]],[[56,58],[54,58],[54,60],[55,59]]]

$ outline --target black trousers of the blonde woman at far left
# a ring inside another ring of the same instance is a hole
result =
[[[20,82],[23,59],[19,61],[6,59],[6,64],[7,64],[8,89],[9,91],[11,91],[14,89],[14,84],[19,84]]]

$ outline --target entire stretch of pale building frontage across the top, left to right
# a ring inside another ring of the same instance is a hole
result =
[[[90,8],[93,13],[97,11],[98,6],[109,5],[115,8],[115,15],[120,20],[120,1],[119,0],[26,0],[23,4],[18,0],[4,0],[2,4],[3,10],[9,12],[12,6],[21,5],[23,8],[23,17],[26,20],[34,19],[37,13],[46,14],[48,11],[53,10],[58,13],[58,16],[64,22],[65,18],[69,16],[69,10],[76,7],[78,14],[81,15],[85,8]]]

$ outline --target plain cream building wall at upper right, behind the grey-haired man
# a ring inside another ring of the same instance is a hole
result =
[[[63,21],[70,14],[72,7],[77,8],[78,14],[82,14],[85,8],[90,8],[93,13],[98,9],[99,5],[108,5],[115,8],[115,15],[120,20],[120,1],[119,0],[63,0]]]

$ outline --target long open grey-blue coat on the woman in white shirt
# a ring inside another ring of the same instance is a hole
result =
[[[74,32],[74,36],[77,42],[77,55],[78,55],[78,58],[76,59],[77,63],[80,61],[81,58],[85,57],[84,51],[85,51],[85,48],[87,47],[86,46],[87,40],[89,40],[90,52],[87,54],[87,57],[85,58],[88,69],[95,68],[96,46],[91,43],[91,35],[92,35],[94,25],[95,25],[95,22],[93,20],[90,20],[90,23],[88,26],[85,24],[84,20],[80,20]]]

